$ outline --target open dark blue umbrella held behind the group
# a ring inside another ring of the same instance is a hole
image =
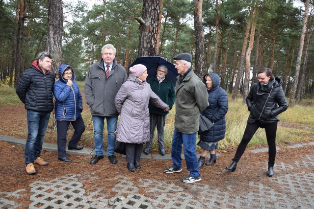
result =
[[[142,64],[147,68],[147,79],[155,77],[157,75],[157,68],[160,65],[164,65],[168,69],[166,78],[170,80],[174,86],[176,86],[178,71],[175,69],[175,65],[163,59],[162,57],[137,57],[130,67]],[[130,68],[129,67],[129,68]]]

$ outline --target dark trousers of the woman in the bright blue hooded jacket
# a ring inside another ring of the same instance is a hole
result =
[[[69,141],[70,147],[76,147],[77,143],[85,131],[85,124],[82,117],[79,117],[75,121],[60,121],[57,120],[57,146],[58,146],[58,158],[64,158],[67,156],[65,146],[67,143],[67,132],[70,123],[74,128],[73,136]]]

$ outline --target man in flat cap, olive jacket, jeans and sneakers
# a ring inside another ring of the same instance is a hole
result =
[[[182,53],[173,58],[179,76],[176,83],[176,115],[175,130],[172,139],[171,158],[173,165],[164,170],[165,173],[182,171],[182,144],[187,170],[190,175],[183,179],[184,183],[201,181],[195,149],[196,132],[200,126],[200,112],[209,106],[205,84],[190,69],[192,55]]]

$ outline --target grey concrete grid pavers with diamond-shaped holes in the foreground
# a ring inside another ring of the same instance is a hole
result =
[[[0,140],[21,143],[19,139],[3,136],[0,136]],[[308,144],[314,145],[310,142],[298,144],[295,147]],[[81,150],[75,152],[82,154]],[[155,157],[156,159],[169,158],[169,155],[162,156],[162,158],[160,155],[148,155],[147,157],[149,156],[153,159]],[[298,172],[300,168],[302,171]],[[182,184],[178,185],[176,182],[156,181],[149,177],[132,182],[127,176],[105,179],[104,181],[116,182],[112,188],[107,188],[106,184],[95,185],[92,192],[86,192],[83,187],[84,182],[93,181],[98,177],[92,172],[78,175],[69,174],[48,182],[34,181],[31,183],[29,200],[32,203],[28,207],[30,209],[313,209],[313,168],[314,155],[303,156],[300,161],[291,164],[277,162],[276,175],[269,178],[271,184],[266,186],[260,182],[248,182],[248,188],[242,194],[234,192],[235,186],[229,186],[227,189],[211,188],[210,185],[195,183],[182,187],[180,186]],[[281,172],[284,170],[291,172],[284,174]],[[1,192],[0,208],[21,207],[10,197],[19,198],[20,193],[25,191],[22,189],[15,192]],[[140,191],[145,192],[142,194]],[[199,191],[204,191],[204,193],[200,194]]]

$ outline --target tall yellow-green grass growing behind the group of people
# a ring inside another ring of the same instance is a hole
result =
[[[79,81],[78,86],[81,93],[84,92],[84,82]],[[239,96],[240,98],[240,96]],[[0,107],[8,105],[19,105],[22,102],[19,100],[13,88],[0,87]],[[305,100],[302,104],[306,105],[295,105],[294,108],[288,108],[288,110],[279,115],[282,123],[277,129],[276,141],[279,143],[291,143],[291,142],[302,142],[310,141],[314,139],[314,102],[312,100]],[[94,147],[93,139],[93,122],[90,115],[89,107],[86,105],[85,98],[83,96],[83,112],[82,117],[86,126],[85,132],[82,135],[81,143],[84,146]],[[174,116],[175,106],[169,112],[166,117],[165,125],[165,145],[167,152],[170,152],[172,136],[174,131]],[[229,97],[229,110],[226,115],[227,129],[226,138],[219,141],[219,149],[225,150],[232,147],[236,147],[242,139],[246,121],[249,116],[249,111],[246,105],[242,105],[242,99],[238,101],[231,101]],[[50,124],[51,121],[50,121]],[[106,123],[105,123],[106,124]],[[27,127],[24,127],[24,132],[27,132]],[[68,136],[72,132],[69,131]],[[25,134],[25,133],[24,133]],[[56,141],[56,131],[47,131],[46,139]],[[106,146],[106,125],[104,128],[104,146]],[[254,145],[265,145],[267,144],[264,129],[258,129],[253,139],[250,141],[249,146]],[[158,151],[157,142],[157,130],[155,131],[155,137],[152,144],[152,149]],[[198,147],[199,149],[199,147]]]

